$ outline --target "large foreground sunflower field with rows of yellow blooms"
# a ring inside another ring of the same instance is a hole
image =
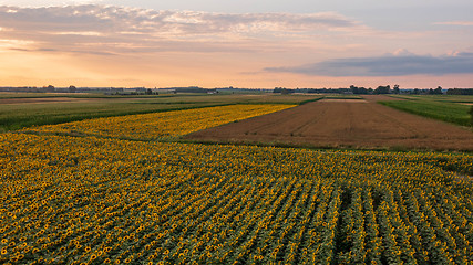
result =
[[[1,134],[0,264],[472,264],[472,163]]]

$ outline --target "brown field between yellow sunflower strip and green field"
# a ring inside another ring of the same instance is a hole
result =
[[[377,104],[395,99],[319,100],[216,128],[186,139],[311,147],[473,151],[473,131]],[[360,104],[364,102],[364,104]]]

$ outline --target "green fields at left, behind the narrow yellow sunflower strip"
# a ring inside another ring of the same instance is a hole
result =
[[[72,102],[24,102],[28,98],[58,99],[59,94],[4,93],[0,94],[0,132],[17,130],[35,125],[51,125],[99,117],[123,116],[189,109],[234,104],[302,104],[319,99],[320,96],[304,95],[207,95],[164,94],[154,96],[105,96],[100,94],[61,94]],[[79,98],[78,98],[79,97]],[[11,103],[19,99],[20,103]]]

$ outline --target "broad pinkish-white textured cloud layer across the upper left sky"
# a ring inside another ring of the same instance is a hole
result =
[[[99,4],[0,7],[0,40],[31,41],[37,50],[64,52],[253,51],[258,41],[286,41],[281,35],[288,33],[304,38],[359,28],[363,28],[359,22],[331,12],[232,14]],[[245,43],[253,46],[238,45]]]

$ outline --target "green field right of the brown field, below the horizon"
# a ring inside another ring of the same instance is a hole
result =
[[[472,96],[394,96],[405,100],[380,102],[380,104],[429,118],[461,126],[473,126],[469,110]]]

